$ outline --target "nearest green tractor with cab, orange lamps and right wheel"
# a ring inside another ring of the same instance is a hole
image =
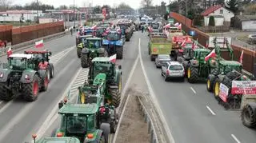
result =
[[[54,129],[53,137],[76,137],[79,141],[110,143],[110,124],[97,120],[101,107],[97,103],[59,103],[60,127]]]

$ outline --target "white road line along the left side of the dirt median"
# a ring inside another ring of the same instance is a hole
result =
[[[136,66],[138,65],[138,57],[136,58],[135,62],[134,62],[134,66],[132,68],[132,70],[130,71],[130,75],[128,77],[128,80],[126,81],[126,86],[125,88],[122,90],[122,99],[123,99],[123,96],[125,96],[125,93],[126,93],[126,90],[128,89],[129,85],[130,85],[130,80],[131,80],[131,77],[133,77],[133,74],[134,74],[134,70],[136,68]],[[121,113],[121,116],[119,117],[119,122],[118,122],[118,126],[117,126],[117,129],[116,129],[116,132],[114,133],[114,139],[113,139],[113,143],[116,142],[117,138],[118,138],[118,132],[119,132],[119,129],[120,129],[120,125],[121,125],[121,121],[122,121],[122,117],[125,113],[125,110],[126,110],[126,105],[127,105],[127,102],[130,98],[130,94],[127,95],[127,99],[126,99],[126,103],[125,105],[123,106],[123,109],[122,109],[122,113]],[[121,100],[121,103],[122,103],[122,100]],[[119,108],[117,109],[119,110]]]

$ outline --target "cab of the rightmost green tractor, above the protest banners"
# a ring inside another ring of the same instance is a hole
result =
[[[226,75],[233,70],[238,71],[238,73],[242,73],[242,64],[236,61],[225,61],[221,60],[218,64],[220,73]]]

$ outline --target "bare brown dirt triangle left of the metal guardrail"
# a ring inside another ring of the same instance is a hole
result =
[[[150,136],[147,133],[147,124],[139,109],[138,99],[132,91],[129,96],[116,143],[149,143]]]

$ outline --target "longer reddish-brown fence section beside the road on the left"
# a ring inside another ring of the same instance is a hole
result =
[[[50,22],[12,29],[12,45],[64,31],[64,22]]]

